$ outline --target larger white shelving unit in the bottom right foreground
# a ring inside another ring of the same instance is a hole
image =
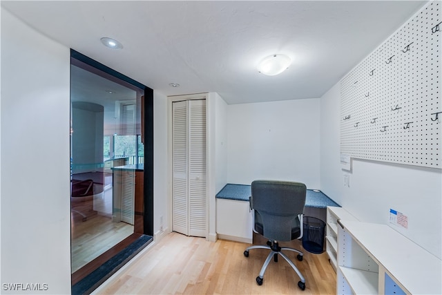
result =
[[[442,294],[441,259],[388,225],[338,221],[337,294]]]

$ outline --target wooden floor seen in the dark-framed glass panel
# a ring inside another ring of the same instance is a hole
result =
[[[76,272],[131,234],[133,225],[112,222],[108,216],[97,215],[84,222],[71,216],[71,272]]]

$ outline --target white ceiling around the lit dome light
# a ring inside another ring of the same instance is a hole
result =
[[[165,95],[322,96],[426,1],[1,1],[30,26]],[[113,37],[124,48],[100,42]],[[31,44],[30,44],[31,46]],[[263,57],[289,55],[278,76]],[[172,88],[169,83],[178,83]]]

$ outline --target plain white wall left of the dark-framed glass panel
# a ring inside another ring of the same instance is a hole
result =
[[[3,8],[1,86],[1,292],[69,294],[70,50]]]

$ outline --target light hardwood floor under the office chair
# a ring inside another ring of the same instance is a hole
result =
[[[255,238],[258,244],[265,240]],[[311,254],[299,240],[289,247],[301,249],[302,262],[296,253],[285,253],[305,276],[306,288],[298,288],[299,278],[288,263],[271,260],[259,286],[256,276],[267,257],[267,250],[253,249],[249,258],[244,249],[250,244],[187,237],[177,233],[165,236],[151,249],[126,267],[96,294],[336,294],[336,274],[327,254]]]

